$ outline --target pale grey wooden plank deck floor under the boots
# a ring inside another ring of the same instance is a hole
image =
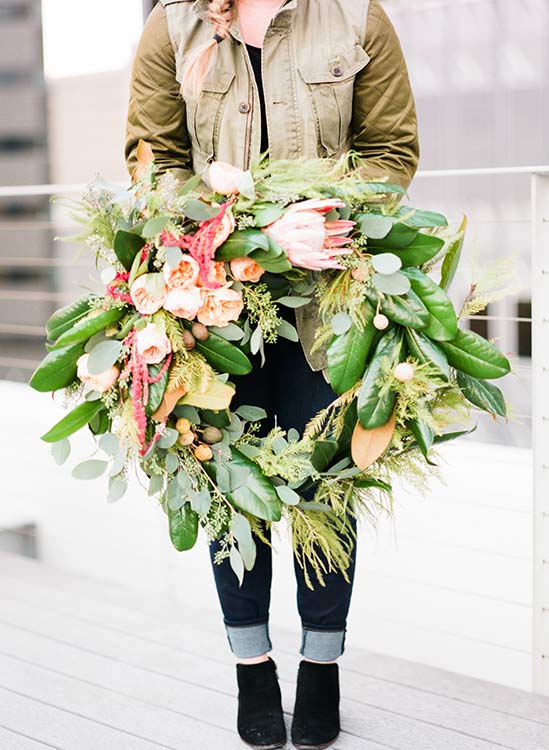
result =
[[[289,721],[297,635],[274,640]],[[342,690],[338,750],[549,750],[539,696],[356,649]],[[0,750],[240,750],[235,709],[217,619],[0,554]]]

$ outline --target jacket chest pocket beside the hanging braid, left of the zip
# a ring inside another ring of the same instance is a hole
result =
[[[200,93],[188,98],[187,129],[193,150],[200,152],[204,161],[216,156],[221,118],[234,78],[234,73],[215,71],[206,77]]]

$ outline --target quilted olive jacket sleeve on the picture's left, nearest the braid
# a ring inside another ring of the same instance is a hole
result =
[[[176,80],[175,55],[161,4],[147,19],[132,68],[125,147],[130,174],[137,163],[140,139],[151,146],[158,173],[172,170],[179,179],[192,177],[185,102]]]

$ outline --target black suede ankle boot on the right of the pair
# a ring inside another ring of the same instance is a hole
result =
[[[297,675],[292,742],[298,750],[323,750],[338,735],[338,666],[302,661]]]

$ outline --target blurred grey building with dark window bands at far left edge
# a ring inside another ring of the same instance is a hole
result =
[[[47,183],[48,118],[40,0],[0,4],[0,185]],[[49,202],[0,200],[0,374],[25,375],[51,309]]]

